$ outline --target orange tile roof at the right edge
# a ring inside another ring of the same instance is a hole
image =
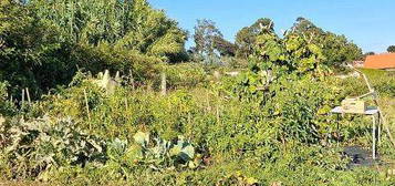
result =
[[[368,55],[364,63],[365,69],[395,69],[395,53]]]

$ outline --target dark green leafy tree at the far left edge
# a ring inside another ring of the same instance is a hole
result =
[[[60,41],[58,28],[41,22],[35,12],[12,0],[0,2],[0,81],[8,81],[14,94],[30,87],[54,87],[71,79],[75,64],[71,48]]]

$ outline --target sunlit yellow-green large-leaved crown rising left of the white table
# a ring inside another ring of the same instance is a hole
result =
[[[328,66],[322,64],[324,56],[321,48],[295,32],[285,34],[283,39],[272,32],[262,32],[257,37],[254,50],[251,60],[256,73],[278,68],[300,74],[312,72],[322,75],[328,71]]]

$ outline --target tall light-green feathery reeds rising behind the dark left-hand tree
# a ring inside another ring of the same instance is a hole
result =
[[[146,0],[31,0],[29,4],[42,21],[62,31],[61,38],[74,43],[105,42],[167,59],[185,53],[186,31]]]

